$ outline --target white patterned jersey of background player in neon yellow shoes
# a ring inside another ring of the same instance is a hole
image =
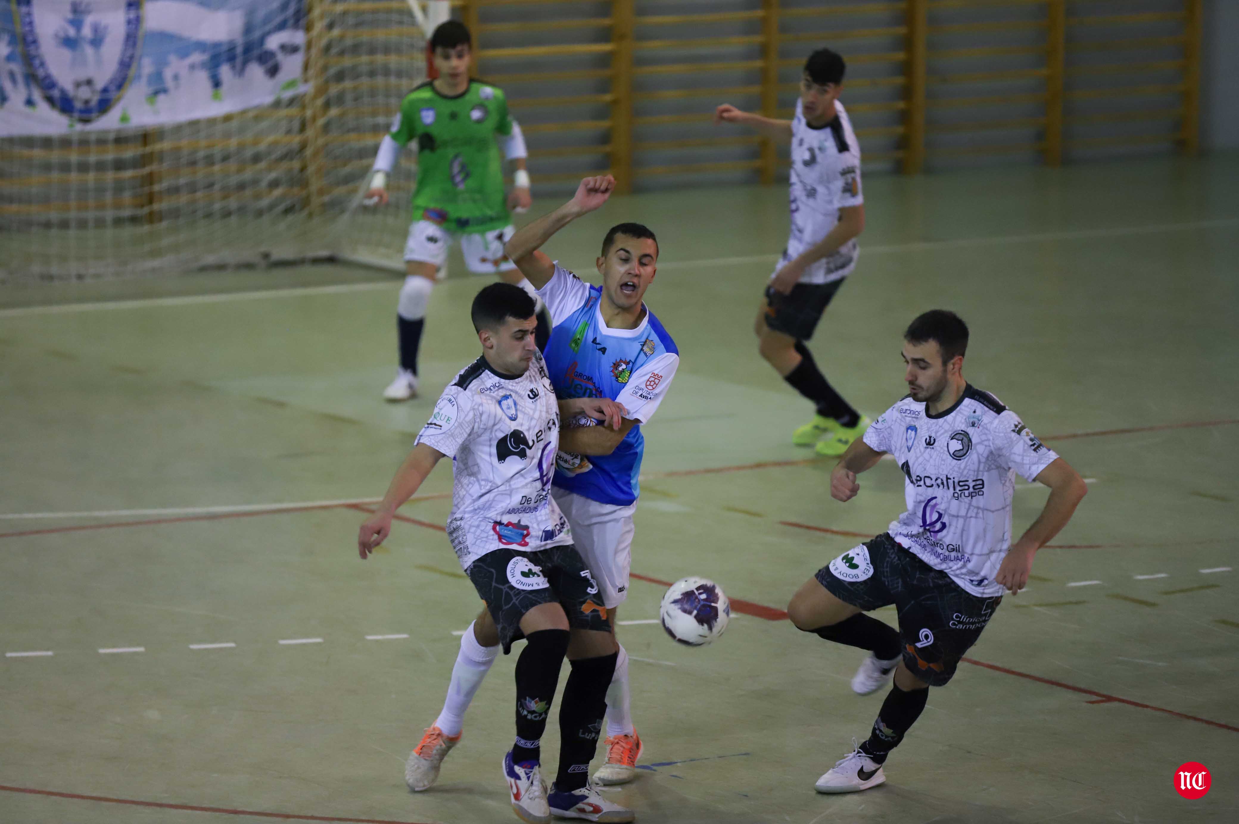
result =
[[[839,209],[865,202],[860,192],[860,144],[843,103],[835,102],[835,116],[813,128],[795,102],[792,119],[792,171],[788,192],[792,230],[779,260],[790,263],[809,247],[820,243],[839,223]],[[829,284],[856,268],[860,247],[852,238],[818,260],[800,275],[802,284]],[[774,270],[776,274],[778,269]],[[773,276],[773,275],[772,275]]]

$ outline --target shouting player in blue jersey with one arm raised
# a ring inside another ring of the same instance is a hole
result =
[[[555,394],[560,400],[610,398],[624,408],[618,425],[611,421],[593,426],[592,419],[564,421],[551,487],[555,503],[572,528],[576,548],[598,585],[612,627],[616,610],[628,592],[633,513],[641,492],[637,477],[644,451],[641,425],[649,421],[667,395],[680,359],[675,342],[642,301],[654,280],[658,240],[639,223],[621,223],[607,232],[596,261],[601,286],[582,281],[539,248],[565,226],[606,203],[613,188],[611,176],[582,180],[571,201],[517,232],[506,247],[551,313],[554,330],[545,359]],[[530,501],[527,506],[532,513],[546,502]],[[489,612],[482,610],[461,638],[444,709],[409,756],[405,779],[411,789],[427,789],[439,777],[440,765],[460,740],[465,710],[489,670],[498,644]],[[593,781],[631,781],[642,743],[632,724],[628,654],[622,646],[607,690],[606,748],[607,761]],[[582,812],[579,818],[589,814]]]

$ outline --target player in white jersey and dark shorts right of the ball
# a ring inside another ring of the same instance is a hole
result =
[[[869,739],[818,779],[820,793],[886,781],[882,765],[924,709],[928,688],[950,680],[1004,591],[1023,589],[1033,555],[1087,492],[1022,419],[964,380],[968,327],[955,313],[926,312],[903,337],[909,394],[847,447],[830,475],[830,494],[854,498],[856,475],[888,454],[903,470],[907,511],[886,533],[818,570],[788,606],[797,628],[870,651],[854,691],[875,693],[895,673]],[[1016,475],[1051,492],[1041,515],[1011,543]],[[898,631],[864,615],[891,603]]]

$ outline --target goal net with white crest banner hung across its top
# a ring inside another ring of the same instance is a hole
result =
[[[392,203],[359,204],[400,100],[426,78],[426,32],[447,19],[449,2],[4,5],[0,283],[327,256],[403,269],[411,152],[389,175]],[[169,16],[172,6],[180,16]],[[130,26],[138,41],[125,40]],[[108,64],[123,72],[126,42],[140,50],[130,50],[128,85],[103,114]],[[103,68],[98,81],[64,82],[56,61],[71,78]],[[247,104],[255,81],[266,97]],[[72,94],[81,119],[63,115],[57,89]]]

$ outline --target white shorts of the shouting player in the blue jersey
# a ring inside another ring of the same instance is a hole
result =
[[[572,528],[572,544],[598,582],[602,606],[620,606],[628,597],[634,532],[632,515],[637,504],[617,507],[598,503],[559,487],[551,488],[551,496]]]

